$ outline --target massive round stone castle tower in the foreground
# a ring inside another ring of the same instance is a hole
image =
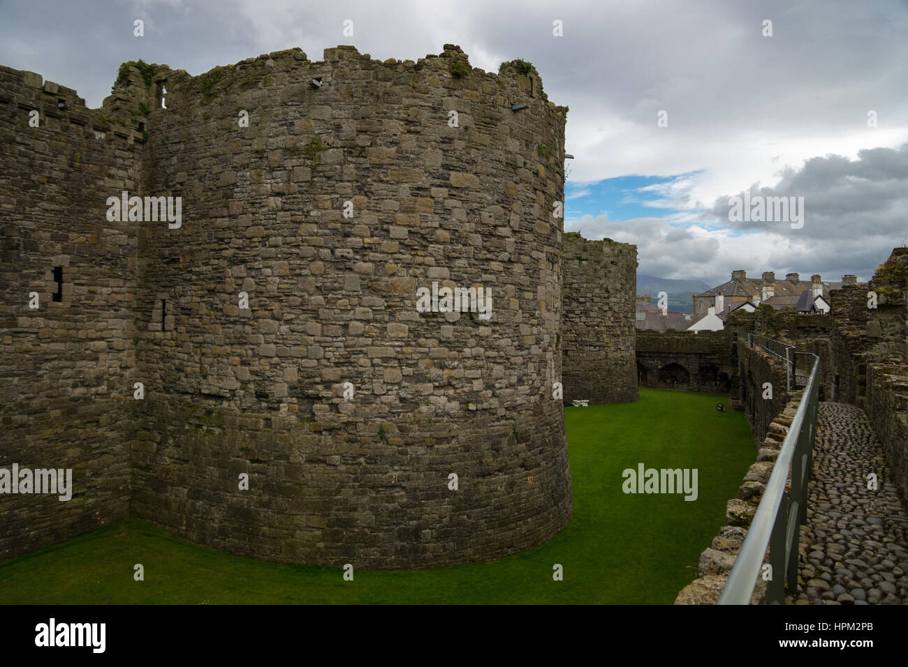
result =
[[[155,74],[143,169],[183,225],[140,228],[134,515],[366,568],[497,558],[567,524],[564,112],[535,70],[465,65],[339,47]],[[491,318],[419,312],[433,281],[490,289]]]

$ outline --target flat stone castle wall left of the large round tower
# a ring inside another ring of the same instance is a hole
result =
[[[137,237],[106,199],[133,187],[141,145],[116,107],[0,66],[0,468],[72,470],[69,501],[0,495],[0,560],[128,513]]]

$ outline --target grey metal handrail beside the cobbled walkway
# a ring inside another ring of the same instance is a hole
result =
[[[763,499],[756,508],[735,566],[719,596],[719,604],[750,603],[757,577],[765,574],[763,557],[767,546],[771,569],[767,571],[769,576],[764,577],[768,581],[766,603],[785,603],[786,581],[789,592],[794,592],[797,587],[798,526],[804,524],[807,518],[807,484],[813,466],[820,358],[810,352],[796,352],[795,355],[813,357],[814,366],[801,404],[775,459]],[[790,493],[786,494],[789,468],[792,484]]]

